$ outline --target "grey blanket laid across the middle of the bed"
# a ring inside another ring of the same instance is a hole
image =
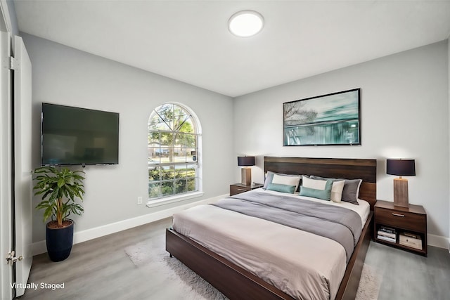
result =
[[[241,193],[212,205],[335,240],[344,247],[347,263],[361,235],[361,218],[355,211],[300,197]]]

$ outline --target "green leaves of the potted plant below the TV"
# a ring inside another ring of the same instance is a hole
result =
[[[37,181],[33,188],[37,190],[34,195],[42,195],[41,202],[36,208],[44,210],[44,222],[51,217],[62,226],[70,214],[81,216],[84,209],[81,204],[75,202],[75,199],[83,200],[84,171],[39,167],[33,173],[36,174],[34,181]]]

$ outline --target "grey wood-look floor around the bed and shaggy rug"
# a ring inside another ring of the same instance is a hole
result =
[[[182,299],[170,282],[146,268],[136,268],[124,248],[161,235],[163,219],[120,233],[75,244],[70,257],[51,262],[34,256],[29,282],[64,282],[64,289],[27,289],[20,299]],[[366,263],[383,275],[378,299],[450,299],[450,254],[428,248],[428,257],[371,242]]]

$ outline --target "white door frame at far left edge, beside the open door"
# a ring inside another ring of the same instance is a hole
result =
[[[6,264],[12,249],[11,223],[11,78],[8,70],[10,35],[6,32],[3,14],[0,15],[0,299],[12,299],[13,268]]]

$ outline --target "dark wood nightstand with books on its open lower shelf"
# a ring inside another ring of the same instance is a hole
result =
[[[378,200],[373,210],[376,242],[427,256],[427,213],[423,206],[397,207]]]

